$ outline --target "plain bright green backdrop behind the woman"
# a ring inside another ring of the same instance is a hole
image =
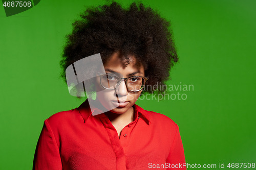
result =
[[[173,23],[180,60],[168,83],[194,91],[137,104],[179,125],[189,164],[256,163],[256,1],[142,2]],[[45,0],[10,17],[0,7],[0,169],[31,169],[44,120],[83,102],[59,79],[59,61],[84,5],[102,3]]]

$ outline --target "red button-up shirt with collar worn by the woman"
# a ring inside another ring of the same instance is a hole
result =
[[[92,115],[88,100],[52,115],[38,139],[33,169],[186,169],[177,124],[134,108],[136,118],[120,138],[104,113]]]

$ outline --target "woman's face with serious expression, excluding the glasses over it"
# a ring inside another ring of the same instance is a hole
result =
[[[119,53],[115,53],[110,61],[104,64],[104,71],[106,74],[115,74],[121,78],[129,78],[132,76],[145,76],[144,68],[141,64],[136,62],[134,56],[130,63],[125,66]],[[113,79],[110,77],[109,79]],[[132,81],[136,81],[135,79]],[[120,85],[113,90],[107,90],[100,84],[100,77],[96,80],[97,100],[113,113],[124,113],[129,110],[138,100],[141,91],[133,92],[126,88],[125,81],[122,80]]]

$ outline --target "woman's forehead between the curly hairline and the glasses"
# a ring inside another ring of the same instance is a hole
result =
[[[133,72],[139,72],[144,75],[144,67],[141,63],[137,62],[134,56],[129,56],[127,59],[119,53],[114,53],[110,60],[104,64],[104,68],[114,70],[123,76]]]

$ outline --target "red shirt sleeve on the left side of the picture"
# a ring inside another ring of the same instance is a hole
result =
[[[59,147],[47,119],[36,145],[33,162],[33,170],[40,169],[62,169]]]

